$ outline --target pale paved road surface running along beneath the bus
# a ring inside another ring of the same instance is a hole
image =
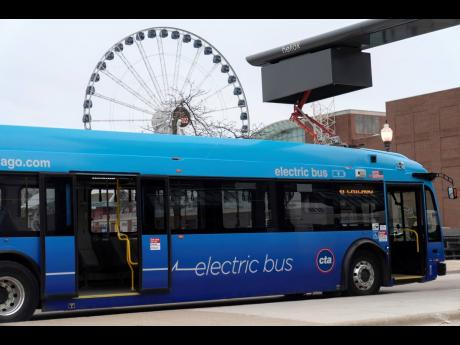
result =
[[[11,325],[460,325],[460,271],[365,297],[272,297],[109,311],[37,313]]]

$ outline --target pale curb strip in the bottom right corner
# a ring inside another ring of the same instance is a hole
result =
[[[420,326],[429,323],[449,324],[450,321],[460,320],[460,309],[426,313],[405,315],[400,317],[389,317],[372,320],[339,322],[327,325],[333,326]]]

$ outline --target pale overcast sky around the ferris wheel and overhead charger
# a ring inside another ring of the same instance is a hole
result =
[[[84,92],[99,58],[133,32],[191,31],[236,70],[251,122],[287,119],[292,106],[262,102],[260,68],[246,56],[361,20],[0,20],[0,124],[83,128]],[[335,110],[385,110],[385,102],[460,86],[460,26],[367,50],[373,87],[335,97]],[[327,104],[328,102],[324,102]]]

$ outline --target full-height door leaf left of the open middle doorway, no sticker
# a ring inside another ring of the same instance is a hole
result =
[[[42,294],[76,293],[73,181],[70,176],[40,176]]]

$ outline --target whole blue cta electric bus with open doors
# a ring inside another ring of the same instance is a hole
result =
[[[397,153],[0,126],[0,321],[446,273],[431,180]]]

